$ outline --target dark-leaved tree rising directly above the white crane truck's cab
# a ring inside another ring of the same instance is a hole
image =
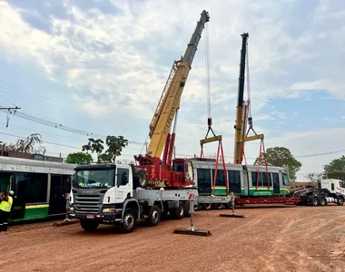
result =
[[[104,151],[104,141],[102,139],[90,138],[87,144],[82,147],[83,151],[97,153],[97,161],[115,162],[116,157],[120,156],[123,148],[128,145],[128,140],[123,136],[107,136],[105,139],[107,150]],[[104,153],[103,153],[104,151]]]

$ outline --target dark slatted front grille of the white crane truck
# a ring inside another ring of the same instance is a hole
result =
[[[77,189],[74,193],[74,212],[97,214],[101,212],[104,190]]]

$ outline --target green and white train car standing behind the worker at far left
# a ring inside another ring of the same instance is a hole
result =
[[[15,191],[9,222],[64,215],[74,164],[0,157],[0,189]]]

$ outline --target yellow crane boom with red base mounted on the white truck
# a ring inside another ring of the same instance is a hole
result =
[[[181,96],[188,74],[192,69],[192,60],[196,53],[204,24],[209,22],[210,16],[205,10],[196,25],[194,33],[181,60],[173,62],[167,82],[150,124],[150,144],[146,154],[134,156],[139,161],[138,168],[146,170],[147,176],[139,180],[140,186],[150,185],[158,187],[183,187],[192,185],[192,180],[185,180],[183,172],[172,171],[173,148],[176,131],[178,110]],[[171,128],[173,124],[173,133]],[[163,152],[163,159],[161,155]],[[146,181],[147,180],[147,181]]]

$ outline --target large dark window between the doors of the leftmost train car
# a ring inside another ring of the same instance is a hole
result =
[[[29,180],[26,187],[26,203],[46,202],[48,188],[48,174],[28,173]]]

